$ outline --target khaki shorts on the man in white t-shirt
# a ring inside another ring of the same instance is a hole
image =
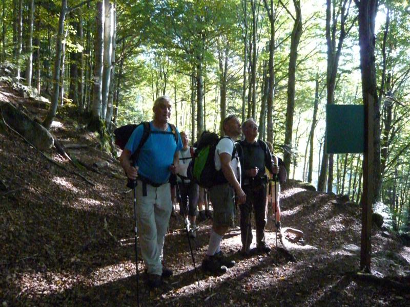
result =
[[[228,183],[218,184],[209,189],[209,197],[214,207],[213,226],[234,227],[234,188]]]

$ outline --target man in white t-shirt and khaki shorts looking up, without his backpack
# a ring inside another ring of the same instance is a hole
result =
[[[240,164],[237,158],[235,140],[241,133],[239,120],[234,115],[223,120],[225,137],[215,148],[216,185],[209,189],[209,196],[214,208],[214,218],[208,250],[202,261],[202,269],[211,273],[223,274],[235,266],[235,261],[227,259],[220,250],[223,235],[234,226],[235,194],[238,204],[243,204],[246,195],[240,179]]]

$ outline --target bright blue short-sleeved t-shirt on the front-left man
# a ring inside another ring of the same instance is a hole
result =
[[[160,131],[150,122],[151,131]],[[172,128],[168,125],[169,132]],[[138,144],[144,132],[144,125],[139,125],[129,138],[126,149],[131,153],[137,149]],[[170,177],[169,167],[174,163],[174,154],[182,149],[182,141],[178,129],[175,133],[178,135],[178,143],[175,142],[173,134],[150,133],[147,141],[139,151],[139,157],[136,165],[138,173],[155,183],[165,183]]]

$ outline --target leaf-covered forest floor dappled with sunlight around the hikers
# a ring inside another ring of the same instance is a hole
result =
[[[24,99],[0,83],[0,96]],[[45,110],[31,108],[42,118]],[[66,104],[50,132],[88,168],[78,169],[56,149],[50,162],[12,131],[0,134],[0,302],[6,306],[136,306],[132,193],[119,163],[99,150],[98,138],[78,124]],[[84,124],[84,123],[83,123]],[[107,161],[105,168],[93,163]],[[83,176],[80,177],[79,175]],[[87,181],[84,179],[86,178]],[[239,255],[240,232],[232,229],[222,250],[236,266],[222,276],[201,268],[211,221],[192,240],[199,286],[182,218],[171,217],[164,259],[174,276],[150,291],[139,256],[141,306],[392,306],[409,305],[410,248],[373,227],[374,278],[356,275],[360,265],[358,206],[288,181],[281,195],[282,227],[303,231],[304,243],[282,238],[297,259],[275,252],[272,212],[267,225],[271,255]],[[255,233],[254,233],[255,238]],[[283,247],[279,242],[278,246]],[[255,241],[251,248],[255,247]]]

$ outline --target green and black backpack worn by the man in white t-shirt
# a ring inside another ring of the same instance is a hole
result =
[[[219,141],[216,133],[203,134],[198,142],[194,157],[188,166],[187,175],[191,182],[196,182],[202,188],[210,188],[216,184],[228,182],[222,170],[215,169],[215,148]],[[232,152],[232,159],[237,157],[236,148]]]

